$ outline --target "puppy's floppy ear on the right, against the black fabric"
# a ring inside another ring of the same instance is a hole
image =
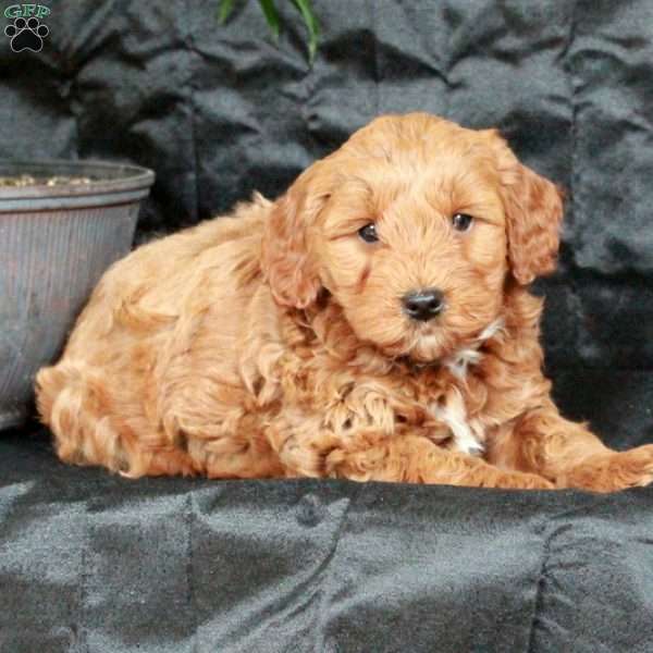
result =
[[[563,194],[555,184],[519,163],[496,130],[485,134],[498,161],[510,269],[513,276],[526,285],[555,269]]]

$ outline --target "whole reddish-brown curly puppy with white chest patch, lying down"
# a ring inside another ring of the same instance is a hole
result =
[[[114,264],[37,379],[63,460],[130,477],[611,491],[653,446],[558,415],[542,301],[562,201],[495,131],[385,116],[275,202]]]

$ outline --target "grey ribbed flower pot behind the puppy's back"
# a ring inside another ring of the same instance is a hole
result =
[[[60,355],[102,272],[130,251],[155,180],[133,165],[0,160],[0,177],[21,175],[39,183],[0,186],[0,430],[29,415],[35,372]],[[46,185],[51,177],[59,183]]]

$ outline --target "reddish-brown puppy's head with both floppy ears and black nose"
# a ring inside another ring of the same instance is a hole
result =
[[[301,174],[267,224],[278,303],[328,289],[359,340],[431,361],[501,313],[506,275],[555,266],[562,200],[495,131],[385,116]]]

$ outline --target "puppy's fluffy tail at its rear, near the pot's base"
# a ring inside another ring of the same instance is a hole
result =
[[[37,373],[36,405],[54,434],[62,460],[124,471],[126,452],[108,417],[106,387],[98,372],[85,364],[62,361]]]

